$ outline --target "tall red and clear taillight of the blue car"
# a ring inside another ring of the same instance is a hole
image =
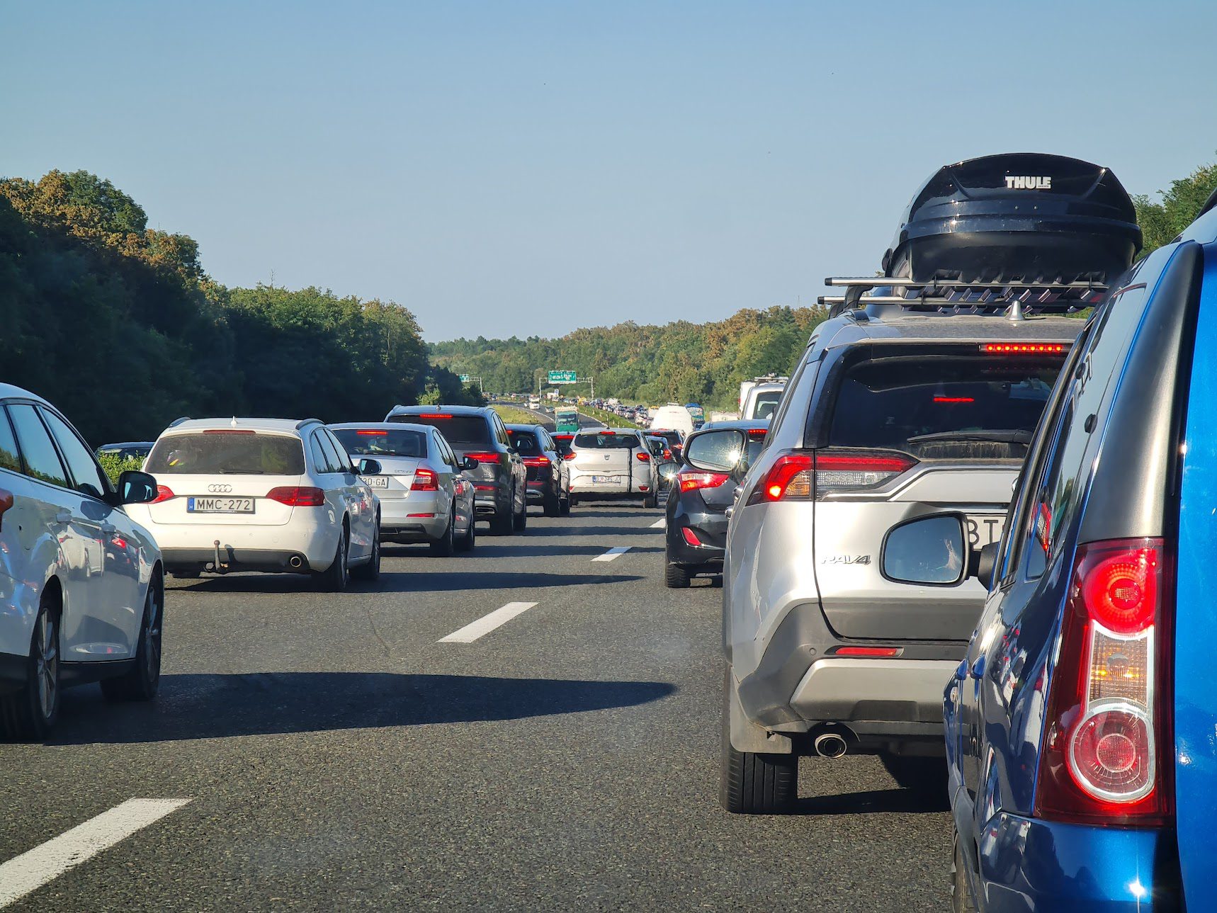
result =
[[[1036,814],[1160,824],[1173,813],[1161,539],[1079,545],[1039,752]]]

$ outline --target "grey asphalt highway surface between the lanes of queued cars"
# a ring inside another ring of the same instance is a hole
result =
[[[170,581],[156,704],[82,687],[0,746],[0,862],[189,801],[10,908],[946,907],[944,799],[875,758],[804,760],[796,814],[719,808],[720,590],[663,587],[661,517],[531,511],[340,595]]]

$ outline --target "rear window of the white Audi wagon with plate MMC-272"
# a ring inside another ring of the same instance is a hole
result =
[[[170,435],[156,442],[144,469],[153,475],[298,476],[304,472],[304,448],[287,435]]]

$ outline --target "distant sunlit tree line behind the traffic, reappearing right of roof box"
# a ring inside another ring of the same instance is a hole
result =
[[[1217,164],[1206,164],[1154,198],[1134,196],[1143,253],[1187,228],[1215,187]],[[454,371],[481,375],[486,388],[495,392],[534,391],[539,370],[567,369],[594,377],[598,396],[734,409],[740,381],[770,371],[789,374],[812,329],[826,317],[823,308],[773,307],[707,324],[599,326],[557,340],[478,336],[432,343],[431,358]]]

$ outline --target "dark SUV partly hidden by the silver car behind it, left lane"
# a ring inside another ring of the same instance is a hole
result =
[[[523,459],[499,414],[476,405],[394,405],[385,421],[432,425],[439,429],[458,458],[477,469],[465,470],[473,484],[473,510],[490,521],[490,532],[507,536],[528,522],[528,483]]]

